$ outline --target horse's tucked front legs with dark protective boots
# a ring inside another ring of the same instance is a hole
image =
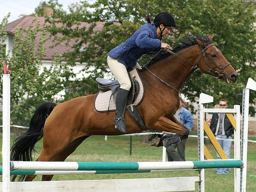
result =
[[[180,137],[180,140],[184,140],[188,138],[188,134],[189,134],[188,128],[185,127],[183,124],[181,124],[174,116],[172,116],[170,119],[165,116],[160,116],[155,122],[151,122],[151,123],[152,123],[151,127],[153,129],[176,133],[179,135],[177,137]],[[177,143],[177,138],[172,137],[172,135],[167,135],[165,137],[167,139],[165,141],[166,142],[168,141],[169,143],[168,145],[172,145],[172,142],[173,144]],[[150,143],[151,143],[150,145],[159,147],[162,145],[161,140],[162,140],[162,136],[160,136],[159,134],[155,134],[150,138]]]

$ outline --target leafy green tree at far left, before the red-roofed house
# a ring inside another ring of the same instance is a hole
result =
[[[6,60],[11,74],[11,121],[12,124],[24,126],[29,125],[31,116],[40,104],[56,102],[55,95],[66,87],[72,75],[68,66],[61,64],[61,55],[55,54],[52,60],[54,64],[50,68],[42,67],[47,26],[40,28],[40,23],[37,23],[34,28],[35,21],[36,18],[28,30],[16,29],[12,57]],[[7,24],[5,20],[4,24]],[[0,36],[4,33],[2,31]],[[36,50],[38,37],[40,40]],[[2,95],[2,86],[0,89]]]

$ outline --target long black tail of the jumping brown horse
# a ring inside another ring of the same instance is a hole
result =
[[[36,152],[35,144],[43,137],[43,128],[46,118],[50,115],[56,103],[46,102],[40,105],[31,118],[27,132],[19,135],[14,140],[11,148],[11,161],[32,161],[32,152]],[[14,175],[12,181],[17,175]],[[19,181],[24,180],[25,175],[20,176]]]

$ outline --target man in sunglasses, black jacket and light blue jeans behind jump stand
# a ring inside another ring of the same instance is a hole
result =
[[[219,101],[220,108],[227,108],[228,101],[226,99],[221,99]],[[225,113],[213,113],[212,119],[207,120],[207,124],[210,126],[215,137],[221,138],[223,140],[218,140],[220,146],[223,148],[225,154],[230,158],[230,149],[232,145],[231,135],[234,133],[234,128],[232,127],[228,117]],[[220,159],[219,154],[217,153],[218,159]],[[218,168],[217,174],[228,174],[228,168]]]

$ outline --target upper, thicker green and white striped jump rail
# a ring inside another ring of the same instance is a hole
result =
[[[170,169],[240,168],[241,160],[205,160],[174,162],[39,162],[11,161],[11,171],[137,171]]]

